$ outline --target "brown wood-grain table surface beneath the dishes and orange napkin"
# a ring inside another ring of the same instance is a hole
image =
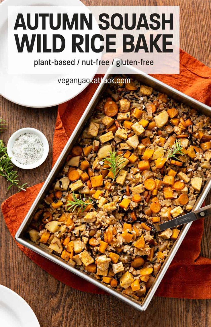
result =
[[[1,2],[2,0],[0,0]],[[114,5],[112,0],[84,0],[87,5]],[[208,0],[117,0],[116,5],[179,5],[180,47],[211,67],[210,6]],[[38,95],[39,96],[39,95]],[[18,174],[29,186],[44,181],[50,172],[53,132],[57,108],[24,108],[0,97],[0,116],[8,122],[5,142],[19,128],[40,129],[48,138],[50,153],[41,167]],[[7,183],[1,179],[0,202],[6,196]],[[15,193],[8,192],[7,197]],[[207,200],[210,203],[210,195]],[[32,307],[41,327],[51,326],[210,326],[210,300],[183,300],[154,297],[147,311],[140,313],[107,295],[82,293],[65,286],[27,258],[15,245],[4,219],[0,217],[0,284],[20,296]],[[202,255],[211,258],[210,220],[205,221]],[[30,325],[30,323],[29,323]]]

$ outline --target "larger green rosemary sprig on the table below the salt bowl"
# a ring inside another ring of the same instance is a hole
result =
[[[25,191],[26,183],[19,185],[20,181],[18,180],[17,171],[14,171],[14,165],[11,162],[8,153],[7,147],[5,147],[4,142],[0,140],[0,176],[5,177],[10,183],[7,191],[12,187],[16,186],[19,191]]]

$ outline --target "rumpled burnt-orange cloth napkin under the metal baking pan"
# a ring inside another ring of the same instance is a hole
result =
[[[179,75],[155,75],[155,78],[211,106],[211,69],[189,54],[180,51]],[[58,107],[54,135],[53,164],[65,146],[79,118],[98,85],[90,84],[77,98]],[[42,186],[35,185],[13,195],[2,203],[2,212],[11,235],[14,237],[27,211]],[[211,298],[211,260],[200,256],[203,220],[195,221],[164,276],[156,295],[189,298]],[[19,245],[19,248],[38,266],[62,283],[81,291],[106,294],[66,269]]]

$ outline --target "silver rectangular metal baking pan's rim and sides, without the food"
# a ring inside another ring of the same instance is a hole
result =
[[[113,71],[114,71],[114,67],[110,66],[104,79],[112,77]],[[147,84],[147,85],[153,87],[155,90],[158,90],[162,93],[168,94],[170,97],[174,98],[176,101],[183,102],[183,103],[187,104],[188,106],[193,107],[194,109],[197,109],[199,112],[202,112],[205,115],[211,116],[211,108],[204,105],[203,103],[173,89],[172,87],[160,82],[159,80],[157,80],[145,73],[141,73],[139,70],[137,70],[135,68],[128,67],[128,71],[131,72],[130,74],[127,74],[129,77],[133,77],[137,80],[140,80],[144,84]],[[164,264],[162,265],[159,273],[156,276],[156,280],[155,280],[154,284],[152,285],[151,289],[148,291],[143,302],[139,302],[133,298],[128,297],[127,295],[122,294],[121,292],[119,292],[109,286],[106,286],[105,284],[98,281],[94,277],[87,275],[84,271],[78,270],[78,269],[70,266],[64,260],[60,259],[59,257],[57,257],[54,254],[49,253],[48,251],[42,249],[40,246],[34,244],[33,242],[31,242],[30,240],[28,240],[24,237],[24,233],[25,233],[27,227],[29,226],[33,215],[35,214],[36,210],[38,209],[39,204],[41,203],[42,199],[44,198],[44,196],[50,189],[51,184],[53,183],[53,181],[56,178],[56,176],[58,175],[58,173],[62,170],[68,154],[70,153],[72,147],[76,143],[77,138],[81,133],[81,130],[83,129],[84,125],[86,124],[87,120],[89,119],[92,111],[94,110],[96,104],[98,103],[99,98],[101,97],[101,95],[103,94],[105,89],[106,89],[106,83],[104,83],[104,81],[102,81],[101,84],[99,85],[99,87],[97,88],[95,94],[93,95],[91,101],[89,102],[87,109],[85,110],[85,112],[82,115],[80,121],[78,122],[76,128],[74,129],[74,131],[73,131],[70,139],[68,140],[66,146],[64,147],[62,153],[60,154],[53,169],[51,170],[49,176],[47,177],[43,187],[41,188],[41,191],[39,192],[37,198],[35,199],[34,203],[32,204],[28,214],[24,218],[23,223],[21,224],[19,230],[17,231],[17,233],[15,235],[15,239],[18,243],[22,244],[23,246],[27,247],[28,249],[33,250],[34,252],[42,255],[43,257],[57,263],[59,266],[64,267],[65,269],[71,271],[72,273],[84,278],[88,282],[102,288],[104,291],[114,295],[118,299],[126,302],[127,304],[133,306],[134,308],[136,308],[140,311],[144,311],[144,310],[146,310],[150,301],[152,300],[152,297],[153,297],[157,287],[159,286],[174,255],[176,254],[188,229],[190,228],[191,223],[184,225],[182,231],[180,232],[178,239],[175,241],[173,247],[171,248],[167,259],[165,260]],[[206,198],[207,193],[209,192],[210,188],[211,188],[211,178],[206,182],[206,184],[203,188],[203,191],[201,192],[201,195],[199,196],[193,210],[199,209],[202,206],[202,203],[203,203],[204,199]]]

